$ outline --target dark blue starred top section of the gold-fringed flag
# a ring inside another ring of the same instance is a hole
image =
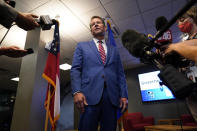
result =
[[[55,25],[54,38],[51,43],[50,53],[57,55],[60,50],[59,27]]]

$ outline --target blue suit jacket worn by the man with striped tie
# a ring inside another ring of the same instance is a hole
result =
[[[82,92],[88,105],[98,104],[103,93],[104,81],[113,105],[119,106],[120,98],[128,98],[127,84],[120,55],[116,47],[106,43],[107,58],[102,63],[94,41],[80,42],[74,52],[71,68],[73,93]]]

